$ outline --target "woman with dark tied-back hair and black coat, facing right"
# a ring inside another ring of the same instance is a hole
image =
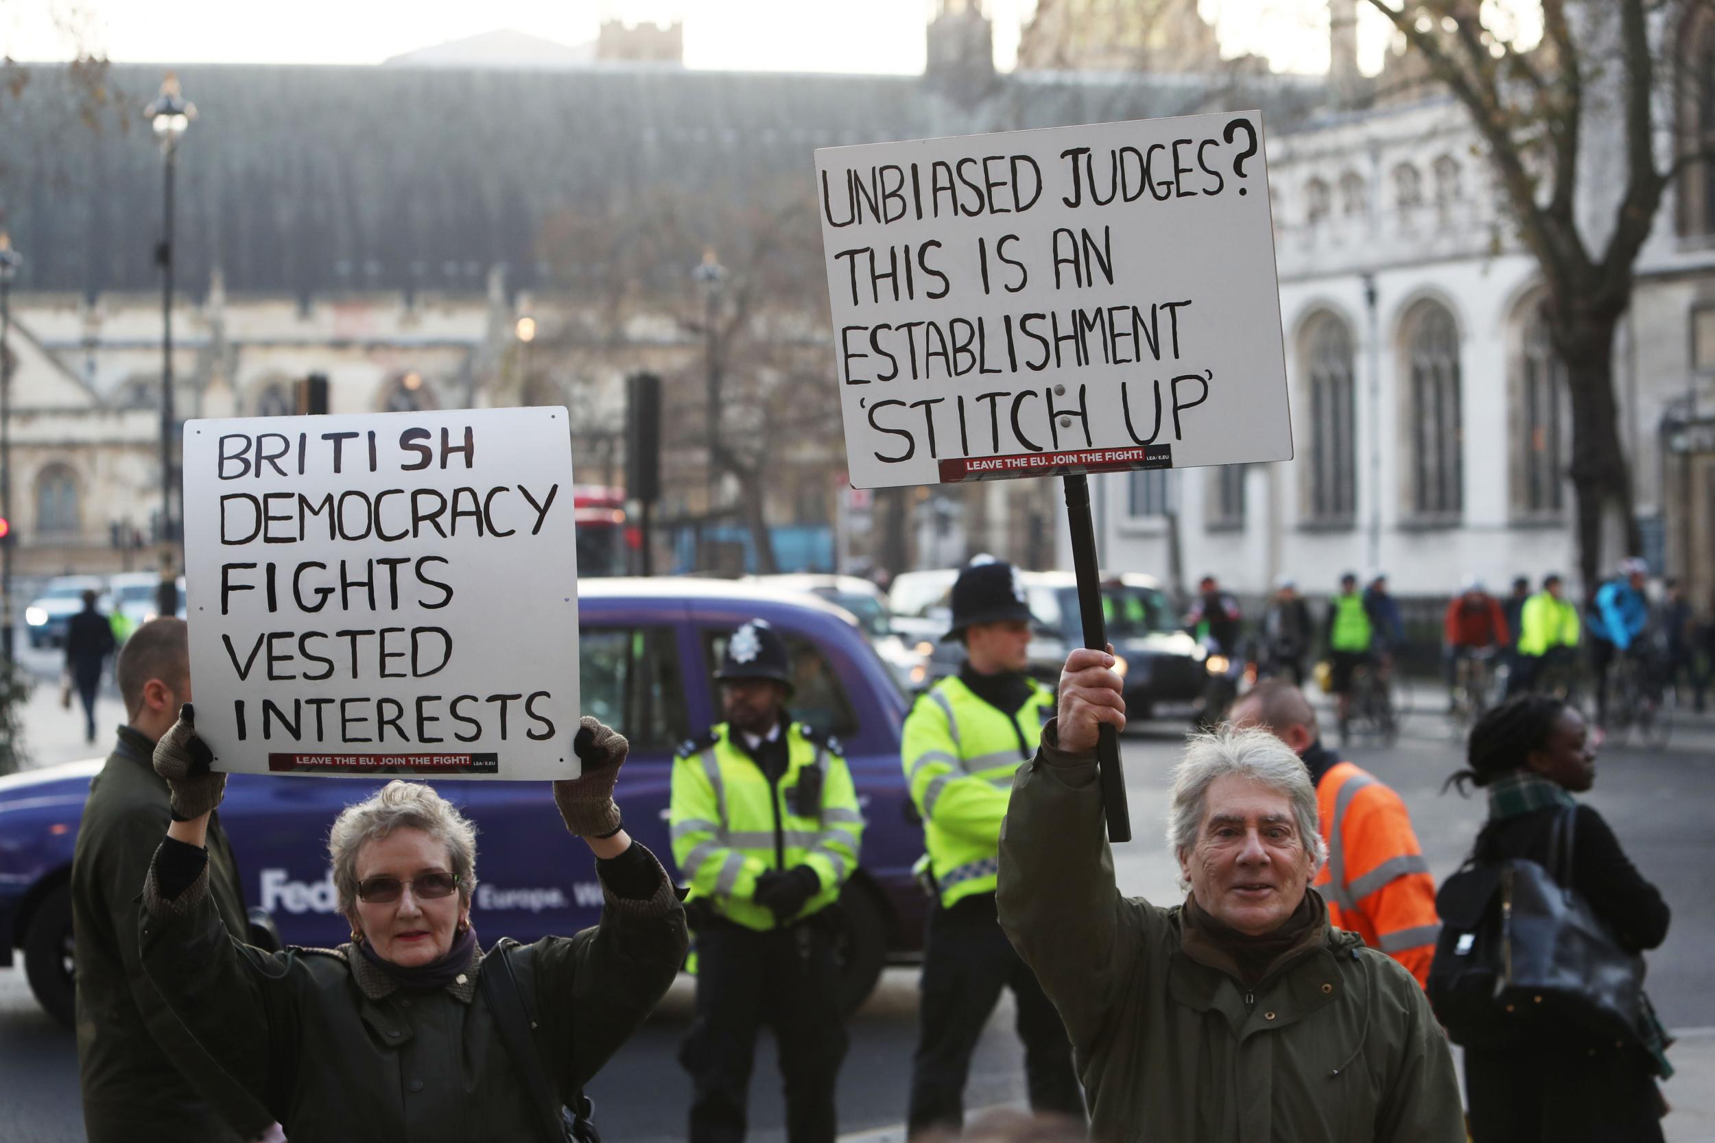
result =
[[[1573,795],[1595,783],[1597,752],[1583,715],[1559,699],[1513,699],[1471,728],[1468,768],[1447,785],[1470,781],[1489,793],[1489,821],[1473,859],[1528,859],[1554,869],[1550,835],[1576,807],[1573,888],[1633,951],[1667,937],[1667,903],[1619,848],[1602,816]],[[1465,1050],[1465,1090],[1473,1143],[1650,1143],[1662,1140],[1655,1076],[1672,1069],[1658,1050],[1576,1032],[1521,1035],[1518,1044]]]

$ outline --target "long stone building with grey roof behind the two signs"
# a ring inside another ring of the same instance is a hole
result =
[[[712,250],[736,271],[719,324],[748,284],[736,219],[765,230],[770,211],[808,209],[815,147],[1250,106],[1290,122],[1324,99],[1319,79],[1254,72],[995,75],[981,7],[945,9],[923,77],[623,62],[182,69],[201,117],[178,154],[180,416],[290,411],[310,372],[329,377],[334,413],[564,403],[580,480],[619,483],[623,379],[653,368],[671,442],[657,519],[708,519],[734,488],[710,476],[701,435],[708,339],[693,269]],[[110,79],[129,108],[161,72]],[[0,101],[0,202],[26,259],[12,293],[19,566],[113,571],[141,559],[113,538],[147,538],[159,502],[161,159],[139,123],[87,129],[48,72]],[[672,226],[628,231],[645,211]],[[811,235],[784,260],[818,284],[756,308],[746,336],[767,353],[732,358],[729,392],[832,362]],[[724,416],[746,423],[743,408]],[[837,423],[777,452],[772,524],[851,519]],[[883,494],[842,550],[895,571],[979,550],[1048,566],[1050,485]]]

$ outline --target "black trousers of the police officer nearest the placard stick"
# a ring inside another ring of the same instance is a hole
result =
[[[1036,973],[1000,929],[995,895],[978,893],[930,912],[923,949],[918,1052],[911,1061],[911,1134],[964,1126],[971,1052],[1000,990],[1017,1001],[1031,1110],[1084,1119],[1084,1092],[1072,1068],[1072,1042]]]

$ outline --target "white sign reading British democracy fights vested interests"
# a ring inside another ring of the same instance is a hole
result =
[[[564,408],[194,420],[184,487],[218,769],[578,775]]]

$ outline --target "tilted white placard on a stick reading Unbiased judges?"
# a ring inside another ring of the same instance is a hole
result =
[[[883,488],[1291,459],[1259,111],[816,151]]]

